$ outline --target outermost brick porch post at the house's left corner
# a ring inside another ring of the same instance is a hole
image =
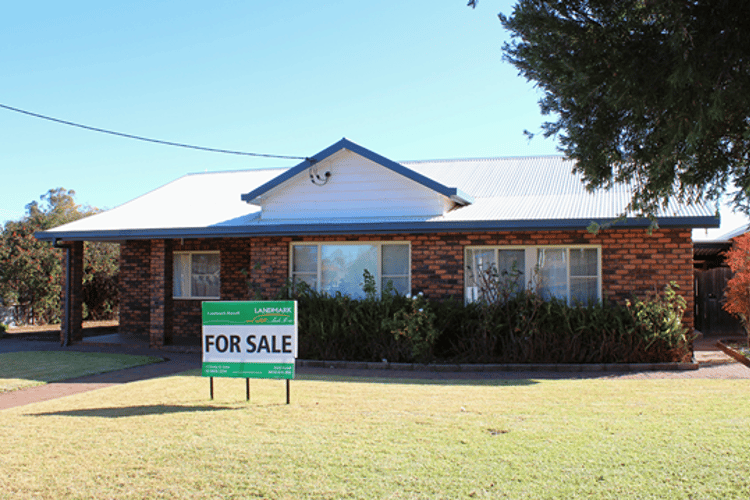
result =
[[[83,340],[83,242],[55,246],[64,250],[60,344],[68,346]]]

